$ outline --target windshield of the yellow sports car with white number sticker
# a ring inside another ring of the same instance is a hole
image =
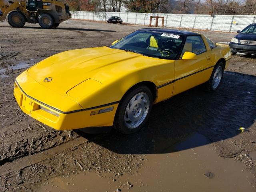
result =
[[[184,36],[151,31],[136,31],[120,39],[110,48],[136,52],[145,56],[176,59]]]

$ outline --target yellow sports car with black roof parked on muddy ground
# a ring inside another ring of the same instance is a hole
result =
[[[20,108],[56,129],[142,128],[152,104],[200,84],[220,86],[231,59],[228,45],[204,35],[144,28],[110,47],[70,50],[20,74],[14,96]]]

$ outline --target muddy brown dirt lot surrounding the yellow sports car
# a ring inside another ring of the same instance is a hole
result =
[[[256,56],[233,56],[213,94],[196,87],[154,105],[133,135],[58,132],[19,109],[14,79],[26,68],[58,52],[108,46],[138,28],[0,23],[0,191],[256,191]],[[234,36],[202,33],[215,42]]]

